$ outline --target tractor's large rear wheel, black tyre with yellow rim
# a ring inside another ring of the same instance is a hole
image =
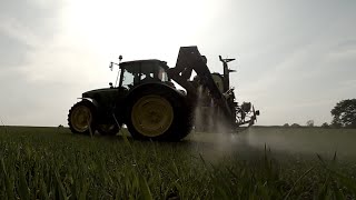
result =
[[[185,97],[175,89],[150,84],[128,98],[127,128],[135,139],[179,141],[191,130]]]

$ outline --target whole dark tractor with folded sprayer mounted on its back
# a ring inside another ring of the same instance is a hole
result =
[[[250,102],[235,101],[229,84],[234,70],[228,69],[235,59],[219,57],[222,74],[210,72],[206,57],[195,46],[180,48],[175,68],[156,59],[121,59],[110,63],[111,70],[119,66],[118,84],[83,92],[69,110],[73,133],[115,136],[126,124],[134,139],[179,141],[191,129],[204,131],[206,126],[201,124],[209,123],[208,116],[219,119],[210,124],[219,122],[230,131],[254,124],[259,116]],[[192,71],[196,76],[191,79]]]

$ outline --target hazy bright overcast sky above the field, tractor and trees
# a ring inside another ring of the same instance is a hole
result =
[[[81,93],[113,82],[110,61],[160,59],[197,46],[212,72],[236,58],[230,83],[257,124],[330,122],[356,98],[353,0],[1,0],[0,119],[67,126]]]

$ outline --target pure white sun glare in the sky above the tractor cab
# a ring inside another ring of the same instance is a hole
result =
[[[195,44],[195,38],[201,37],[212,9],[211,2],[200,0],[77,0],[68,2],[65,19],[71,34],[102,57],[123,50],[134,57],[169,53],[175,60],[177,48]]]

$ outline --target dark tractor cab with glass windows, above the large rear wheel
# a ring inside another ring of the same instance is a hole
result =
[[[120,63],[119,88],[128,90],[149,82],[167,82],[167,62],[160,60],[136,60]]]

